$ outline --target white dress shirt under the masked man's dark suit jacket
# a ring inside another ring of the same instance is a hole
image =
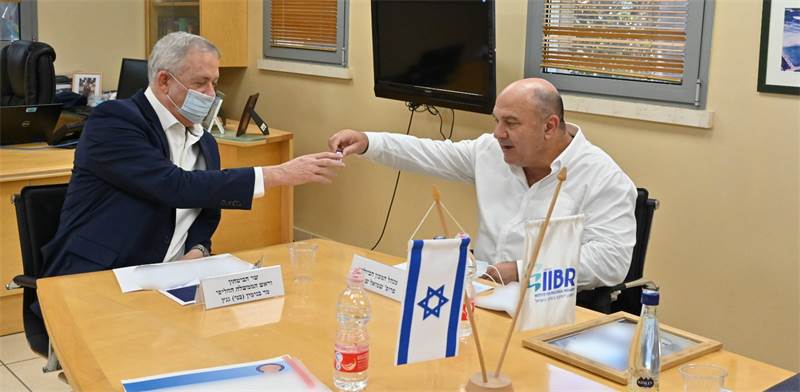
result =
[[[205,170],[206,160],[200,151],[200,137],[203,136],[203,128],[200,124],[194,124],[191,128],[185,127],[175,118],[172,113],[156,98],[156,95],[147,88],[144,92],[147,101],[158,116],[161,127],[167,135],[169,144],[169,160],[176,166],[186,171]],[[264,179],[261,168],[254,168],[256,179],[253,186],[253,198],[264,195]],[[175,232],[172,241],[169,243],[167,254],[163,261],[174,261],[180,259],[185,251],[186,238],[189,235],[189,228],[200,215],[200,208],[176,208],[175,209]]]

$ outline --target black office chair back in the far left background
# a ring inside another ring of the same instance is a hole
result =
[[[56,52],[44,42],[18,40],[0,51],[0,106],[53,103]]]

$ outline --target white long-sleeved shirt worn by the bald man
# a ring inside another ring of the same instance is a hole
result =
[[[478,236],[475,256],[490,263],[523,258],[525,222],[547,213],[561,167],[567,180],[553,216],[584,214],[578,287],[618,284],[625,279],[636,243],[636,188],[580,128],[569,146],[550,165],[549,175],[528,186],[519,166],[503,160],[491,134],[460,142],[433,141],[392,133],[367,132],[364,157],[402,170],[475,184]]]

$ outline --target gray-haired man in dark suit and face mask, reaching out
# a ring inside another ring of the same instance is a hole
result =
[[[220,170],[199,123],[219,78],[219,52],[202,37],[156,43],[147,90],[95,108],[84,127],[61,222],[42,248],[45,276],[207,256],[220,209],[249,209],[265,189],[329,183],[340,155]]]

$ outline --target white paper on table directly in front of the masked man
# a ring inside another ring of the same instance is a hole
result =
[[[138,290],[163,290],[193,281],[252,269],[253,265],[231,254],[114,269],[123,293]]]

